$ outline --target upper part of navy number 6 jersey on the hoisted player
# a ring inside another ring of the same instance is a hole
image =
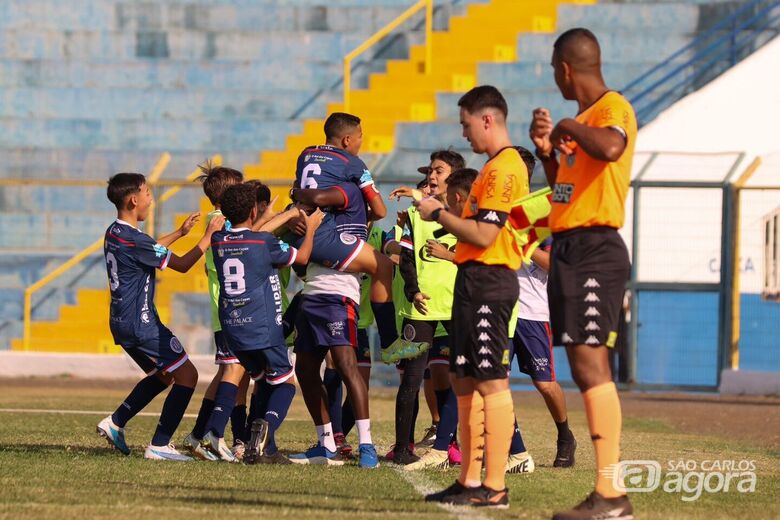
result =
[[[296,185],[302,189],[324,190],[352,183],[358,188],[374,184],[366,164],[351,153],[335,146],[310,146],[298,156]]]

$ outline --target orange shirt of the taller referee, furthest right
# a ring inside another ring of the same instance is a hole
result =
[[[574,154],[560,156],[550,228],[553,233],[579,227],[621,228],[636,144],[634,109],[621,94],[609,91],[575,120],[593,128],[621,129],[626,135],[626,149],[617,161],[605,162],[571,143]]]

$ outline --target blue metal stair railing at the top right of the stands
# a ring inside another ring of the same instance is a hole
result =
[[[643,126],[703,87],[780,32],[780,0],[751,0],[725,16],[622,92]]]

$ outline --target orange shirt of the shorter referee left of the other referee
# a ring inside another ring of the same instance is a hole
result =
[[[528,168],[517,150],[504,148],[482,167],[471,186],[469,201],[461,218],[475,218],[482,212],[481,220],[498,223],[499,216],[496,213],[491,215],[491,212],[508,215],[512,211],[512,203],[528,192]],[[486,248],[461,241],[455,246],[456,264],[476,261],[517,270],[521,258],[522,252],[506,226],[501,226],[496,240]]]

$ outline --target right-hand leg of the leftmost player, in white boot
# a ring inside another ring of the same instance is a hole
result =
[[[198,371],[189,360],[179,339],[165,327],[160,327],[158,337],[149,342],[146,348],[155,351],[155,359],[160,368],[173,376],[173,386],[165,398],[160,421],[144,457],[156,460],[191,460],[179,453],[170,442],[192,399],[195,385],[198,383]]]

